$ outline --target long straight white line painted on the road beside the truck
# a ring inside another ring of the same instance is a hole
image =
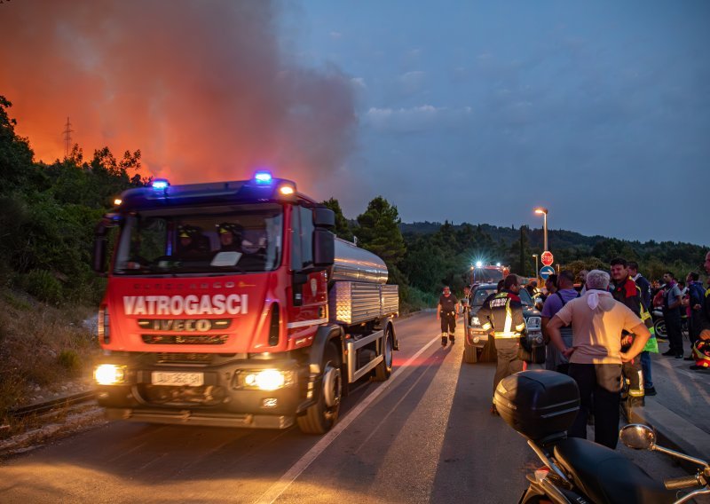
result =
[[[358,406],[346,414],[343,419],[338,421],[333,429],[321,437],[318,443],[313,445],[313,447],[305,453],[303,457],[291,466],[291,469],[288,469],[288,471],[280,477],[279,481],[272,484],[272,486],[269,487],[269,489],[266,490],[266,492],[264,492],[258,500],[256,500],[256,504],[272,504],[272,502],[277,500],[283,492],[286,492],[286,489],[288,489],[288,487],[296,481],[298,476],[301,476],[301,473],[303,473],[305,469],[308,469],[308,466],[310,466],[312,462],[319,457],[320,453],[323,453],[326,448],[331,445],[333,441],[335,441],[335,438],[338,437],[343,430],[347,429],[353,420],[358,418],[359,414],[362,413],[367,406],[369,406],[376,398],[379,398],[385,390],[390,388],[390,385],[394,379],[397,378],[402,371],[412,364],[414,360],[419,358],[419,356],[434,343],[441,343],[441,335],[437,335],[433,340],[425,344],[402,366],[399,366],[397,370],[391,374],[390,379],[387,382],[383,382],[382,386],[377,387],[372,394],[363,399]]]

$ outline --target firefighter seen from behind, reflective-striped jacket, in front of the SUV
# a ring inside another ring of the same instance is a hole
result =
[[[523,303],[520,301],[520,279],[516,274],[505,278],[501,292],[488,297],[477,313],[481,327],[495,338],[495,350],[498,354],[498,366],[493,377],[493,395],[495,388],[503,378],[522,371],[524,363],[518,357],[520,338],[525,335],[525,316]],[[498,414],[495,402],[491,413]]]

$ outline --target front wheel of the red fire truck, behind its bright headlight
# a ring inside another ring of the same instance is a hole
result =
[[[343,378],[340,370],[341,358],[333,344],[326,345],[322,362],[323,377],[318,402],[309,407],[304,415],[296,417],[298,428],[304,434],[325,434],[338,420],[340,399],[343,397]]]

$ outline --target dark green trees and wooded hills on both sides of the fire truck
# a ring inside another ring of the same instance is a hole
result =
[[[91,271],[93,230],[117,194],[150,182],[139,174],[140,151],[117,158],[104,147],[84,159],[75,145],[63,160],[36,162],[28,138],[15,131],[11,106],[0,96],[0,284],[50,303],[98,303],[105,280]],[[382,196],[349,220],[337,200],[323,203],[335,212],[337,236],[357,239],[359,247],[383,258],[388,281],[400,286],[404,310],[436,304],[443,285],[461,292],[477,260],[501,262],[533,276],[533,254],[541,252],[541,232],[525,225],[403,224],[397,207]],[[612,257],[623,256],[637,261],[649,279],[667,270],[684,278],[689,271],[701,271],[706,254],[705,248],[688,243],[548,234],[556,264],[575,273],[606,268]]]

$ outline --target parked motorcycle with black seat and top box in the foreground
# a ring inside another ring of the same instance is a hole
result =
[[[687,502],[710,493],[710,465],[683,453],[656,445],[655,431],[630,424],[621,429],[621,441],[636,450],[667,453],[699,466],[695,476],[653,479],[618,453],[587,439],[567,437],[566,429],[580,409],[576,382],[553,371],[523,371],[504,378],[495,390],[501,418],[527,438],[544,464],[528,475],[528,488],[519,504],[655,504]],[[698,487],[682,494],[679,489]]]

